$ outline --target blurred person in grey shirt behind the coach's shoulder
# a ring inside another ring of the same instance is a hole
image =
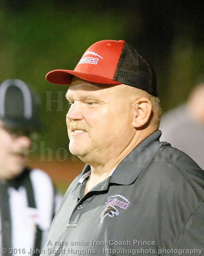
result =
[[[204,80],[196,82],[183,105],[161,117],[161,141],[184,151],[204,169]]]

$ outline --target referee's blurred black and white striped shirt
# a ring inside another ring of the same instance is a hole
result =
[[[41,249],[61,199],[40,169],[25,168],[19,177],[0,184],[0,255],[31,256],[33,249]]]

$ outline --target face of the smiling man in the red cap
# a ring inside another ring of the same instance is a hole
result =
[[[85,162],[108,160],[127,147],[136,130],[127,85],[105,86],[74,79],[66,93],[69,149]]]

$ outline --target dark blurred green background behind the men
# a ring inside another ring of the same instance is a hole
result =
[[[68,151],[68,87],[45,75],[74,69],[91,44],[105,39],[125,40],[150,61],[164,113],[185,102],[204,74],[204,2],[0,0],[0,81],[21,79],[40,95],[47,129],[31,149],[35,162],[28,160],[65,187],[83,164]]]

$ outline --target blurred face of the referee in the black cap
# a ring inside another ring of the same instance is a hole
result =
[[[3,128],[0,121],[0,179],[11,179],[24,168],[26,154],[31,140],[26,136],[17,136]]]

